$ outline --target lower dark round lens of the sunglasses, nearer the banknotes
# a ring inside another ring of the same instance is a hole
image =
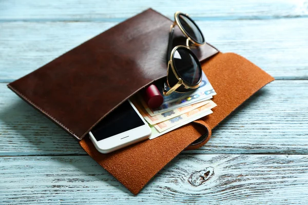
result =
[[[202,77],[202,70],[196,55],[187,48],[178,48],[172,56],[176,73],[182,80],[191,85],[197,85]]]

